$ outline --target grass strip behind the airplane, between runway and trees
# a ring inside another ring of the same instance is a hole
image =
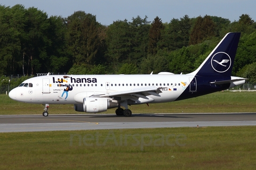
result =
[[[161,104],[132,105],[133,113],[233,113],[256,112],[256,92],[215,92],[196,98]],[[42,114],[39,104],[20,103],[6,95],[0,95],[0,114]],[[85,114],[74,111],[73,105],[50,105],[50,114]],[[115,108],[103,113],[115,113]]]

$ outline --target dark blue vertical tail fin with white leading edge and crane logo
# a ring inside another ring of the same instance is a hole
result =
[[[240,32],[227,33],[198,69],[191,74],[199,76],[230,76],[240,35]]]

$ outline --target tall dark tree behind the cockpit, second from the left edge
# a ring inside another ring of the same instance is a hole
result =
[[[52,41],[47,32],[50,28],[50,22],[45,12],[30,7],[27,10],[28,22],[25,28],[25,41],[23,43],[22,52],[26,55],[27,75],[29,72],[34,74],[41,70],[44,62],[47,63],[49,57],[46,49],[51,46]],[[30,69],[29,69],[30,68]]]

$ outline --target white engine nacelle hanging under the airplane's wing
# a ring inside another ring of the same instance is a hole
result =
[[[107,111],[108,108],[118,107],[118,103],[108,98],[86,97],[83,104],[75,104],[75,111],[87,113],[100,113]]]

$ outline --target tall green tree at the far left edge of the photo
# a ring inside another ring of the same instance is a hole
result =
[[[12,8],[0,6],[0,75],[13,74],[21,68],[21,44],[26,25],[26,12],[22,5]]]

